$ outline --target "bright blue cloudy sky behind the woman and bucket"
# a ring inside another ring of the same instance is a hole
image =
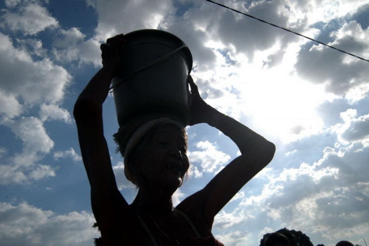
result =
[[[369,59],[368,0],[218,0]],[[93,245],[99,233],[73,105],[101,68],[101,43],[160,29],[182,39],[204,100],[276,145],[272,162],[215,217],[225,245],[302,231],[314,245],[369,240],[369,63],[205,0],[0,2],[1,245]],[[121,193],[137,190],[104,134]],[[206,124],[187,128],[191,168],[173,196],[203,188],[240,153]]]

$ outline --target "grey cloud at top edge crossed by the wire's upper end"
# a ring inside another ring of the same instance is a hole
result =
[[[289,22],[289,15],[293,15],[291,8],[288,6],[288,3],[284,1],[259,1],[243,11],[255,17],[261,17],[273,24],[288,28],[292,25]],[[246,53],[250,60],[253,59],[255,51],[271,48],[276,42],[279,42],[282,48],[284,48],[290,42],[295,42],[299,39],[296,35],[244,15],[236,14],[230,10],[222,10],[218,16],[218,24],[214,24],[211,27],[218,32],[218,38],[224,44],[234,45],[237,52]],[[300,23],[293,23],[293,25],[294,27],[291,28],[294,31],[301,31],[305,23],[301,21]]]

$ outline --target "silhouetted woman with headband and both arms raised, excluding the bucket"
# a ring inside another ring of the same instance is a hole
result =
[[[172,195],[190,166],[185,126],[160,118],[144,122],[128,141],[122,140],[125,132],[118,132],[114,137],[124,156],[125,175],[138,187],[135,200],[128,204],[115,183],[102,117],[110,81],[124,59],[117,52],[117,47],[124,45],[124,36],[110,38],[107,44],[101,45],[103,68],[82,91],[74,108],[92,210],[103,245],[223,245],[211,233],[214,216],[272,160],[275,146],[206,104],[189,77],[189,125],[207,123],[219,129],[235,142],[241,156],[202,190],[173,207]]]

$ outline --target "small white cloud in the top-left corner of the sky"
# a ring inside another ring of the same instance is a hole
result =
[[[15,2],[7,2],[8,6],[16,6]],[[37,3],[19,6],[17,11],[3,10],[1,27],[8,27],[11,31],[21,31],[26,35],[35,35],[46,28],[58,27],[58,21],[50,16],[46,8]]]

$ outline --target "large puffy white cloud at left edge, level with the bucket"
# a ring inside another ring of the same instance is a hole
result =
[[[0,34],[0,90],[21,97],[25,104],[60,102],[71,76],[48,58],[34,61],[31,55],[13,46],[11,39]]]

